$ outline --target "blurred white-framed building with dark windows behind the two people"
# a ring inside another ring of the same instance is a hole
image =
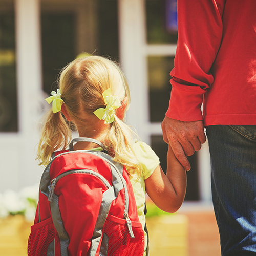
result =
[[[166,168],[161,121],[177,45],[174,0],[0,0],[0,193],[39,183],[35,161],[44,100],[82,52],[121,63],[131,89],[127,122]],[[186,202],[211,205],[207,143],[189,157]]]

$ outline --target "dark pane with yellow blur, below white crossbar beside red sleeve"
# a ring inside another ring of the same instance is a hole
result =
[[[150,121],[162,122],[168,109],[170,91],[170,71],[174,67],[174,57],[148,57],[148,84],[150,92]]]

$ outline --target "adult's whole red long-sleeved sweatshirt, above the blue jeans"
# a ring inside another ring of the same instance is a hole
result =
[[[170,75],[166,116],[205,126],[256,124],[256,1],[178,0]]]

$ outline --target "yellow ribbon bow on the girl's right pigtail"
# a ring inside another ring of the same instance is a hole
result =
[[[112,96],[111,89],[107,89],[102,93],[106,107],[105,109],[99,108],[93,113],[100,119],[105,120],[105,123],[114,122],[114,115],[116,113],[115,109],[118,109],[121,106],[121,103],[117,96]]]

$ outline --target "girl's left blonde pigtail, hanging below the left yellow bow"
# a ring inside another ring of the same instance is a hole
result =
[[[54,114],[50,109],[46,113],[43,123],[36,159],[39,160],[39,165],[46,166],[54,151],[67,147],[72,134],[70,126],[60,111]]]

